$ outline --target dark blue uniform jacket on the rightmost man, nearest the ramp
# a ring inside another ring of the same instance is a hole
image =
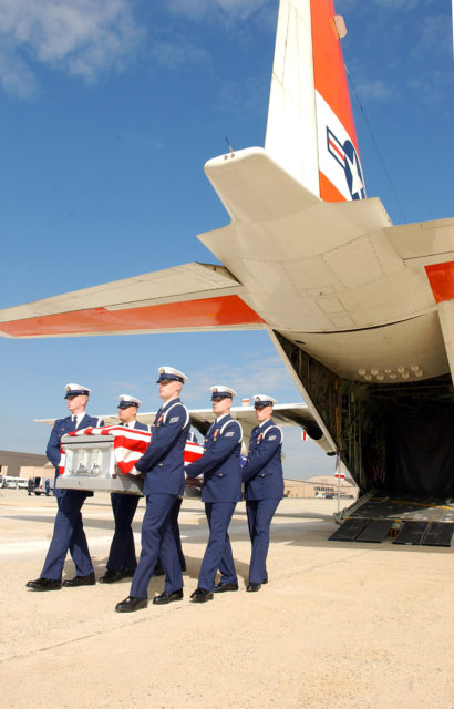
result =
[[[283,496],[282,431],[270,419],[252,429],[249,455],[243,467],[246,500]]]

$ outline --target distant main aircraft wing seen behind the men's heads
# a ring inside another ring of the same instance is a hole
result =
[[[100,419],[103,419],[105,425],[115,425],[118,423],[118,417],[116,413],[97,415]],[[247,450],[252,429],[257,425],[256,411],[254,407],[233,407],[230,415],[241,424],[243,440]],[[155,411],[141,411],[137,419],[142,423],[152,424],[155,417]],[[192,425],[202,433],[203,436],[205,436],[216,418],[211,409],[189,409],[189,417]],[[306,403],[276,404],[272,409],[272,419],[278,425],[299,425],[326,453],[332,452],[332,446],[324,438],[322,430]],[[55,419],[34,419],[34,421],[53,425]]]

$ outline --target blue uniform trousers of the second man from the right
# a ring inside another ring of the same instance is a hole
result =
[[[205,512],[209,526],[209,540],[198,576],[199,588],[211,592],[215,587],[215,578],[218,569],[223,584],[238,583],[230,540],[227,532],[236,504],[236,502],[205,503]]]

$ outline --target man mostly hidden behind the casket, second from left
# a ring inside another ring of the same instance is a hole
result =
[[[120,425],[138,431],[149,431],[149,427],[137,421],[137,410],[142,401],[130,394],[121,394],[118,403]],[[135,556],[133,520],[137,510],[138,495],[112,493],[111,503],[115,520],[111,551],[109,552],[107,568],[101,576],[102,584],[114,584],[122,578],[134,576],[137,567]]]

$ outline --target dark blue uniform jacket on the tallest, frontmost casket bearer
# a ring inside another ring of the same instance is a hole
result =
[[[145,474],[144,495],[151,493],[183,495],[185,473],[183,453],[190,422],[186,407],[179,399],[171,399],[156,413],[151,428],[152,440],[135,464]]]

